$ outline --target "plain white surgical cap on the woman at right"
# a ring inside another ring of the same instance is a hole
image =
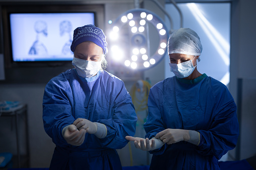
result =
[[[180,28],[168,39],[168,54],[179,53],[200,56],[203,47],[196,32],[189,28]]]

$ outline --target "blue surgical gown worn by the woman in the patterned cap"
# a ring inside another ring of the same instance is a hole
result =
[[[107,136],[86,133],[80,146],[68,144],[62,129],[77,118],[103,123]],[[52,78],[43,97],[43,123],[56,144],[50,169],[121,169],[117,151],[135,134],[137,116],[122,80],[100,71],[82,78],[75,69]]]

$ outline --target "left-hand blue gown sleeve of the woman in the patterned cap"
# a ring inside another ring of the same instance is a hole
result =
[[[58,146],[68,145],[61,132],[65,126],[72,124],[74,121],[67,94],[70,91],[67,81],[59,81],[56,78],[50,80],[44,90],[44,129]]]

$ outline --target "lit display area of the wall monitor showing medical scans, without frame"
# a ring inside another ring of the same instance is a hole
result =
[[[73,31],[88,24],[95,13],[10,14],[13,61],[71,61]]]

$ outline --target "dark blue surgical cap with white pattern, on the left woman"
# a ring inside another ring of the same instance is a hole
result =
[[[73,41],[70,46],[72,52],[74,52],[75,47],[85,41],[92,41],[98,46],[100,46],[103,51],[104,55],[106,56],[108,53],[106,36],[103,31],[95,27],[94,25],[85,25],[82,27],[78,27],[74,30],[73,34]]]

